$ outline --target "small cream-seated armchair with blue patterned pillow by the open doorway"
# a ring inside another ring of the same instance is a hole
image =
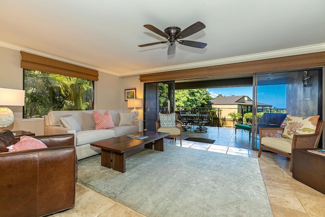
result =
[[[183,123],[176,120],[176,114],[159,114],[159,120],[156,121],[156,132],[158,133],[170,133],[171,135],[165,138],[179,138],[182,146],[182,125]]]

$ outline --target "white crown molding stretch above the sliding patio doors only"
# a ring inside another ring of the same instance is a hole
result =
[[[316,52],[323,52],[323,51],[325,51],[325,43],[288,48],[282,50],[274,50],[274,51],[268,51],[262,53],[254,53],[254,54],[248,54],[242,56],[213,59],[213,60],[201,61],[201,62],[190,63],[190,64],[182,64],[182,65],[175,65],[175,66],[168,66],[168,67],[132,71],[120,75],[120,77],[126,77],[132,75],[143,75],[143,74],[158,73],[158,72],[168,72],[168,71],[176,71],[176,70],[185,70],[185,69],[195,69],[195,68],[202,68],[202,67],[211,67],[211,66],[242,63],[246,61],[270,59],[276,57],[293,56],[293,55],[316,53]]]

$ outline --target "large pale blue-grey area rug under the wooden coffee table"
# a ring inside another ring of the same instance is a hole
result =
[[[258,160],[165,145],[126,158],[126,172],[79,161],[77,181],[145,216],[272,216]]]

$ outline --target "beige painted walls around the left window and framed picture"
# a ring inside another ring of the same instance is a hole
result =
[[[23,89],[23,69],[20,68],[21,55],[18,50],[0,46],[0,87]],[[115,75],[99,72],[99,81],[95,82],[95,109],[124,109],[127,108],[124,101],[124,89],[137,88],[137,99],[143,97],[143,84],[139,76],[119,78]],[[1,96],[0,96],[1,97]],[[14,112],[14,123],[4,129],[11,131],[24,130],[43,135],[43,118],[22,119],[22,107],[9,106]],[[142,110],[139,110],[139,119],[142,119]]]

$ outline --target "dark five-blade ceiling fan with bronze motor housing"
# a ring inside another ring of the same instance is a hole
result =
[[[164,43],[170,42],[170,45],[168,46],[167,54],[171,55],[171,54],[175,53],[175,49],[176,49],[175,41],[177,41],[179,44],[190,46],[190,47],[196,47],[196,48],[205,48],[205,46],[207,46],[206,43],[202,43],[202,42],[180,40],[180,39],[183,39],[185,37],[193,35],[194,33],[197,33],[200,30],[204,29],[205,25],[200,21],[188,26],[184,30],[181,30],[181,28],[176,27],[176,26],[171,26],[171,27],[166,28],[165,31],[163,32],[150,24],[144,25],[144,27],[146,27],[147,29],[151,30],[152,32],[158,34],[159,36],[165,37],[168,41],[143,44],[143,45],[139,45],[139,47],[146,47],[146,46],[151,46],[151,45],[156,45],[156,44],[164,44]],[[180,40],[180,41],[178,41],[178,40]]]

